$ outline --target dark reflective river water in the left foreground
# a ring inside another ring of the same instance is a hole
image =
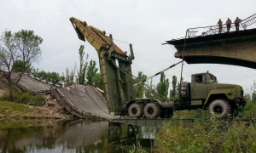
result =
[[[120,153],[133,150],[133,144],[140,144],[143,150],[151,152],[156,131],[150,127],[132,131],[127,126],[115,130],[114,127],[108,128],[108,122],[88,123],[81,120],[53,126],[12,125],[0,125],[0,153]]]

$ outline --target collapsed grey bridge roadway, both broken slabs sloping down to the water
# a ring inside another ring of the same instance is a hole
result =
[[[13,77],[17,77],[14,73]],[[39,81],[30,75],[22,75],[18,87],[34,94],[51,94],[73,116],[94,121],[106,121],[114,118],[108,112],[106,99],[90,85],[72,85],[56,88],[47,82]]]

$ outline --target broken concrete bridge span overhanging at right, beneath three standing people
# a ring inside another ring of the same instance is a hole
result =
[[[239,65],[256,69],[256,29],[166,42],[177,48],[174,56],[188,64]]]

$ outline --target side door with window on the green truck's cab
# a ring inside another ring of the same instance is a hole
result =
[[[205,74],[194,77],[195,83],[192,84],[192,99],[206,99],[207,98],[207,78]]]

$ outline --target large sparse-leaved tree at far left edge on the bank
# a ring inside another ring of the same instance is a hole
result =
[[[26,71],[26,66],[37,61],[42,54],[39,45],[43,42],[34,31],[21,30],[16,33],[4,31],[0,39],[0,71],[9,84],[9,99],[13,100],[13,91]],[[21,60],[20,74],[13,75],[15,62]]]

